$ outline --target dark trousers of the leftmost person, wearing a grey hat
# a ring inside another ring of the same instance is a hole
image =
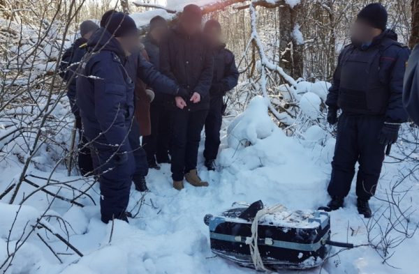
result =
[[[93,172],[93,162],[91,160],[90,146],[89,141],[83,135],[82,130],[82,119],[76,117],[75,127],[78,130],[79,142],[78,142],[78,167],[82,176],[89,174],[92,175]]]

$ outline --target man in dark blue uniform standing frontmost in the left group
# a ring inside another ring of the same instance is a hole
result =
[[[105,28],[87,43],[76,82],[76,103],[84,134],[91,144],[94,168],[101,189],[101,220],[128,220],[131,180],[135,160],[128,140],[134,110],[134,83],[124,64],[138,47],[138,29],[124,13],[112,13]],[[139,64],[138,75],[150,86],[173,96],[182,94],[177,84],[163,77],[152,64]]]

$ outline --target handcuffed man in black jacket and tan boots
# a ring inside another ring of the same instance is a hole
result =
[[[184,7],[179,23],[170,29],[160,45],[160,70],[186,89],[170,112],[172,126],[172,179],[177,190],[183,179],[194,186],[207,186],[197,173],[198,146],[208,109],[214,57],[200,31],[202,13],[198,6]]]

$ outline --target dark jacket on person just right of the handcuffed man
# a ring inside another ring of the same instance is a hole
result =
[[[214,75],[210,88],[210,96],[222,97],[227,91],[237,86],[239,71],[235,65],[233,52],[226,49],[226,45],[219,45],[214,49]]]

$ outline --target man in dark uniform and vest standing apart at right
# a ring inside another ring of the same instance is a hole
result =
[[[358,212],[372,216],[369,199],[376,191],[385,147],[397,141],[400,124],[407,119],[402,89],[409,49],[386,29],[387,19],[380,3],[363,8],[353,26],[352,43],[339,55],[326,100],[328,122],[338,125],[328,187],[332,199],[321,208],[325,211],[344,206],[358,162]]]

